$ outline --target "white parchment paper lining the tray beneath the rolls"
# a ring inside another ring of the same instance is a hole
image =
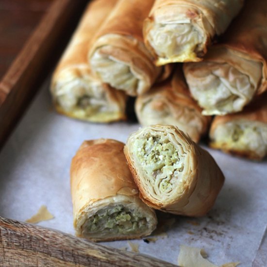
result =
[[[93,124],[58,115],[45,83],[0,151],[0,216],[24,221],[47,205],[55,216],[39,225],[74,234],[69,186],[71,158],[83,140],[125,142],[140,127],[126,122]],[[203,146],[206,148],[205,146]],[[226,182],[206,217],[170,216],[175,223],[155,243],[143,240],[140,252],[177,264],[179,245],[206,250],[217,265],[267,266],[267,161],[255,163],[210,150]],[[166,217],[159,213],[159,217]],[[127,241],[103,243],[128,247]]]

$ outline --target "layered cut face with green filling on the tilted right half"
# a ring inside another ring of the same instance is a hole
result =
[[[156,202],[169,204],[190,183],[190,158],[172,134],[150,131],[135,136],[130,153],[142,173],[144,191]]]

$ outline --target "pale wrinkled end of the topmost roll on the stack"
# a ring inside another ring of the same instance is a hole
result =
[[[167,6],[166,9],[169,7]],[[172,12],[175,13],[173,10]],[[192,23],[186,12],[188,12],[187,8],[179,7],[175,17],[159,19],[152,24],[147,37],[150,46],[161,57],[159,65],[169,62],[196,61],[197,55],[203,54],[207,36],[198,23]],[[195,13],[197,14],[198,11],[195,10]]]

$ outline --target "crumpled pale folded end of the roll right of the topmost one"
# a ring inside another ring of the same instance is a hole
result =
[[[225,54],[226,61],[229,56]],[[233,60],[239,69],[230,64]],[[242,66],[250,67],[242,69]],[[185,76],[204,115],[225,115],[241,111],[251,101],[260,83],[261,71],[260,63],[233,55],[229,63],[188,63]]]

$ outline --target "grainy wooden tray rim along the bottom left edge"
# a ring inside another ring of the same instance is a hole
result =
[[[0,217],[0,266],[174,267],[176,265]]]

